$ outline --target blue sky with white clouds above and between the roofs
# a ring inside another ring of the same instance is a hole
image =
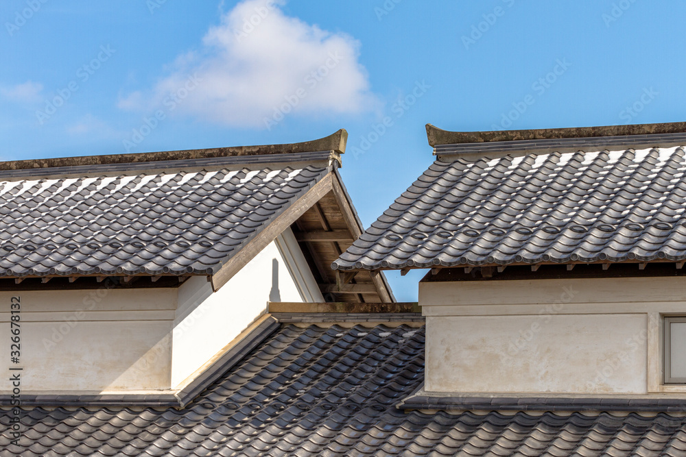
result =
[[[457,131],[685,121],[681,1],[3,0],[0,159],[348,130],[365,226]],[[150,128],[152,127],[152,128]],[[416,299],[421,272],[388,273]]]

